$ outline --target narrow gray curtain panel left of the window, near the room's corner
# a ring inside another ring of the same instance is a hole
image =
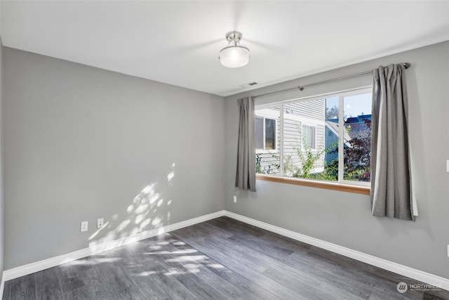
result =
[[[254,97],[239,103],[239,144],[237,148],[236,188],[255,192]]]

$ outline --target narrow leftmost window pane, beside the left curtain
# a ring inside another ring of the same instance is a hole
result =
[[[256,173],[281,174],[279,154],[280,107],[256,109]],[[260,120],[260,121],[257,121]],[[259,123],[257,123],[259,122]],[[259,141],[258,141],[259,140]]]

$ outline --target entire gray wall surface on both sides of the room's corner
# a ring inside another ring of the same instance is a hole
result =
[[[4,48],[4,267],[227,209],[449,278],[448,53],[445,42],[245,94],[412,63],[420,210],[413,223],[370,216],[366,195],[268,181],[257,181],[257,193],[236,190],[236,98],[243,94],[223,100]],[[257,103],[370,84],[368,75]],[[109,223],[93,236],[100,217]],[[79,232],[81,221],[89,221],[88,233]]]

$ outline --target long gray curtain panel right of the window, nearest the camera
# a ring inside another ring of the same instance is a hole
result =
[[[371,213],[415,221],[404,73],[403,65],[373,70]]]

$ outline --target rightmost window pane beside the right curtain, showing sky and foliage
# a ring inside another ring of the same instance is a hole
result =
[[[370,181],[371,97],[344,97],[344,180]]]

